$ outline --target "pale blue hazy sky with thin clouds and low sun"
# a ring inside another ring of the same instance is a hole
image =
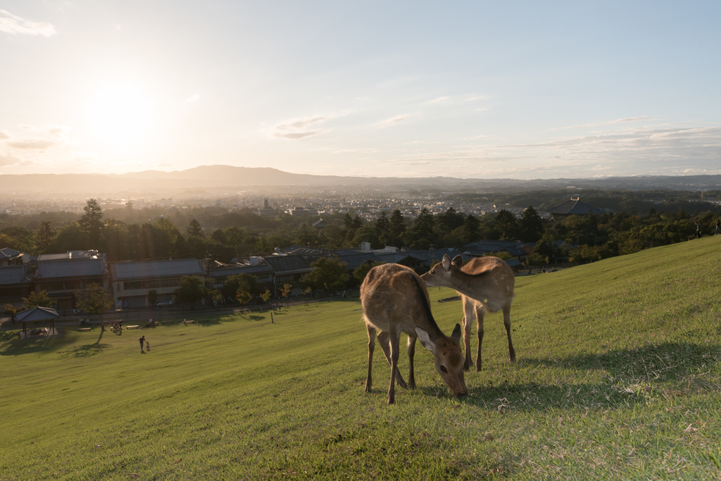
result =
[[[717,1],[0,0],[0,174],[721,174]]]

